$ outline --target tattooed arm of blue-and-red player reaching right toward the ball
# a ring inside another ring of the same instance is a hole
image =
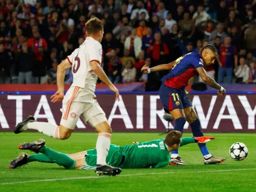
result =
[[[216,88],[216,90],[219,90],[220,95],[225,95],[226,90],[220,84],[216,83],[212,77],[208,76],[207,72],[203,67],[196,68],[196,71],[198,72],[199,76],[203,79],[203,81],[211,86],[212,88]]]

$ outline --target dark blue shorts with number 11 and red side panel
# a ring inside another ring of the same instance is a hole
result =
[[[188,99],[184,89],[177,90],[162,84],[159,96],[166,112],[192,106],[191,100]]]

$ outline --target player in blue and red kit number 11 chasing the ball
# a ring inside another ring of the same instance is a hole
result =
[[[200,120],[196,115],[191,100],[186,96],[185,87],[193,77],[199,74],[206,84],[212,88],[216,88],[220,95],[225,95],[225,88],[209,77],[204,69],[204,65],[213,65],[218,56],[217,52],[216,47],[209,44],[203,47],[201,53],[189,52],[172,63],[157,65],[152,68],[145,65],[141,68],[141,72],[144,74],[159,70],[170,70],[170,72],[161,79],[163,84],[159,90],[159,95],[164,106],[164,111],[170,113],[173,118],[175,118],[175,131],[182,132],[184,124],[188,121],[193,136],[204,136]],[[225,161],[225,158],[212,156],[207,150],[205,143],[198,143],[198,146],[204,156],[204,164],[217,164]],[[186,165],[179,157],[177,150],[172,152],[170,164]]]

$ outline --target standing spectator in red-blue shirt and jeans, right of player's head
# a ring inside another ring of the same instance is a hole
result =
[[[232,84],[233,68],[237,67],[237,50],[234,45],[231,45],[231,38],[225,37],[225,42],[219,49],[219,71],[218,83],[223,83],[224,75],[227,75],[228,83]]]

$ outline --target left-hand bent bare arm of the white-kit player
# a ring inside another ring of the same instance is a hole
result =
[[[71,63],[68,61],[68,59],[65,59],[58,65],[57,68],[57,85],[58,85],[58,91],[54,93],[54,95],[51,96],[52,102],[57,102],[63,100],[64,97],[64,79],[66,70],[68,68],[72,68]]]

